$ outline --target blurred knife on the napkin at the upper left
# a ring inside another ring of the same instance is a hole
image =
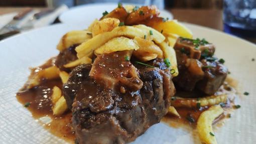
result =
[[[32,11],[31,8],[26,8],[25,10],[23,10],[22,12],[18,13],[14,19],[8,23],[5,27],[3,27],[0,30],[0,34],[4,34],[4,33],[8,33],[11,31],[17,31],[19,29],[19,24],[20,22],[23,20],[24,17],[27,16],[27,14],[29,14]]]

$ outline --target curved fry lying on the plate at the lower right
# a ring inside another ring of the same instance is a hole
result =
[[[224,111],[220,105],[213,105],[208,110],[201,113],[197,120],[197,131],[201,142],[206,144],[217,144],[217,140],[212,130],[212,122]]]

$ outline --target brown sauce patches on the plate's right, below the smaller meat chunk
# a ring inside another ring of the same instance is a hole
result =
[[[222,86],[219,89],[219,91],[215,93],[218,95],[223,93],[227,94],[228,99],[225,105],[222,107],[224,109],[224,113],[221,114],[219,117],[217,117],[213,121],[213,124],[223,120],[224,118],[230,117],[230,113],[232,112],[233,106],[235,105],[234,98],[237,97],[236,87],[237,87],[237,82],[234,79],[227,77],[224,82],[224,87]],[[177,90],[176,92],[176,95],[183,95],[183,97],[187,97],[188,95],[193,96],[193,95],[199,95],[199,94],[201,93],[198,93],[196,91],[184,92],[184,91]],[[176,107],[175,109],[179,113],[180,117],[168,113],[163,117],[162,121],[176,128],[182,127],[184,125],[190,125],[193,128],[195,128],[200,114],[205,110],[207,110],[208,108],[209,108],[208,106],[200,107],[200,108]]]

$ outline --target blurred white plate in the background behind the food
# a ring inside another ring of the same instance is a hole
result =
[[[123,4],[131,5],[131,4]],[[135,5],[135,4],[134,4]],[[139,5],[136,5],[139,6]],[[102,13],[107,11],[111,12],[117,7],[116,3],[104,3],[104,4],[87,4],[78,7],[71,8],[69,11],[60,15],[59,20],[66,24],[84,24],[88,26],[95,19],[101,18]],[[160,17],[173,19],[173,15],[166,11],[160,11]]]

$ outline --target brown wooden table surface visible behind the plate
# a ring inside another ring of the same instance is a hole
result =
[[[35,9],[45,9],[45,8],[35,8]],[[0,7],[0,15],[19,12],[24,10],[24,8],[10,8],[10,7]],[[222,23],[222,10],[205,10],[205,9],[168,9],[174,19],[181,22],[196,24],[204,27],[209,27],[215,30],[223,31]],[[255,38],[246,38],[246,40],[256,43]]]

